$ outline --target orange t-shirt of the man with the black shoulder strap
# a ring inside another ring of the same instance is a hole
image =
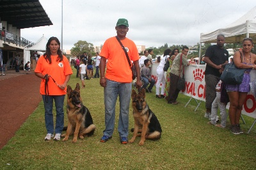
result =
[[[130,60],[136,61],[140,59],[137,47],[132,40],[125,38],[121,40],[121,42]],[[129,66],[124,50],[115,36],[106,40],[101,49],[100,56],[108,59],[105,75],[107,79],[116,82],[132,82],[131,67]]]

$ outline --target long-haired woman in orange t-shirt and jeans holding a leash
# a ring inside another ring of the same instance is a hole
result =
[[[60,41],[56,37],[49,38],[46,52],[38,59],[35,75],[41,78],[40,94],[44,100],[45,141],[50,141],[54,133],[53,100],[56,107],[56,125],[54,140],[59,141],[64,126],[63,104],[67,91],[67,83],[72,74],[68,59],[62,55]]]

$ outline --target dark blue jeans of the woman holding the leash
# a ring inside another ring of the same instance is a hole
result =
[[[65,95],[58,95],[58,96],[47,96],[48,103],[45,101],[45,95],[42,95],[44,100],[44,109],[45,109],[45,127],[47,130],[47,134],[53,134],[54,132],[54,123],[53,123],[53,114],[52,114],[52,107],[53,107],[53,99],[55,102],[56,107],[56,125],[55,125],[55,134],[61,134],[63,127],[64,127],[64,111],[63,111],[63,104]]]

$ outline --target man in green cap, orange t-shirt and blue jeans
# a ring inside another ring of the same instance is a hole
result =
[[[129,104],[131,100],[132,72],[127,61],[124,50],[117,38],[124,45],[129,59],[133,61],[137,76],[140,77],[140,66],[138,60],[140,56],[136,45],[132,40],[126,38],[129,30],[127,19],[118,19],[116,23],[117,37],[106,40],[100,52],[100,86],[104,87],[105,104],[105,130],[100,142],[105,143],[113,135],[115,128],[115,105],[117,96],[120,101],[120,113],[118,121],[118,133],[122,144],[128,143],[129,134]],[[108,59],[105,75],[106,60]],[[136,86],[141,87],[140,79],[137,79]]]

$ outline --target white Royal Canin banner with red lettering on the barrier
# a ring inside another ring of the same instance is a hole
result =
[[[152,78],[157,82],[156,69],[158,64],[153,63],[152,65]],[[184,66],[184,74],[186,79],[186,88],[184,91],[180,91],[183,95],[193,97],[196,100],[202,100],[205,102],[205,66],[206,65],[189,65]],[[166,72],[164,72],[166,76]],[[256,79],[256,70],[252,70],[251,81]],[[227,109],[229,108],[229,103]],[[250,91],[246,97],[243,105],[243,114],[256,119],[256,102],[252,91]]]

